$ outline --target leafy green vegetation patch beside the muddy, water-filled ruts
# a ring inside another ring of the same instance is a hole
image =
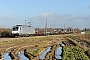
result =
[[[78,46],[65,46],[62,60],[89,60],[85,51]]]

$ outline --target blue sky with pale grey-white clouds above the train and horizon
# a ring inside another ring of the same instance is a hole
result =
[[[33,27],[90,28],[90,0],[0,0],[0,27],[31,22]]]

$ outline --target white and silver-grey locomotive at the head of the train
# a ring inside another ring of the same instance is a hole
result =
[[[35,35],[35,29],[32,26],[16,25],[12,27],[12,36],[30,36]]]

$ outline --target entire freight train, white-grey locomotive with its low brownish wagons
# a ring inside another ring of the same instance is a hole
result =
[[[70,31],[67,30],[61,30],[61,31],[57,31],[57,30],[53,30],[53,31],[49,31],[49,29],[47,29],[47,34],[48,35],[56,35],[56,34],[70,34]],[[12,36],[43,36],[46,35],[45,31],[40,31],[40,30],[35,30],[32,26],[28,26],[28,25],[16,25],[12,27]]]

